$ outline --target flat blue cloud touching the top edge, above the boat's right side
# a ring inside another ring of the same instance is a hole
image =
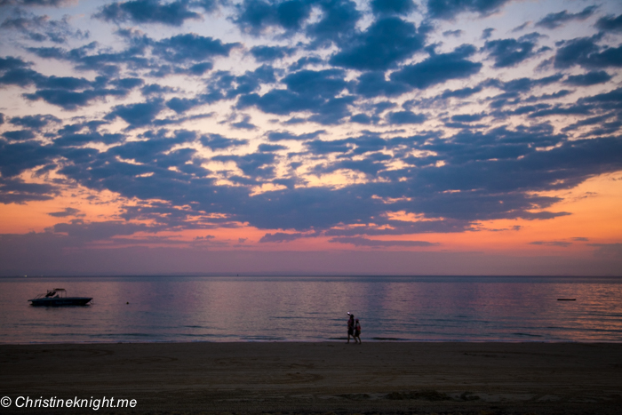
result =
[[[201,19],[201,14],[188,10],[188,2],[183,0],[162,4],[159,0],[132,0],[103,6],[93,17],[123,23],[160,23],[181,26],[186,20]]]

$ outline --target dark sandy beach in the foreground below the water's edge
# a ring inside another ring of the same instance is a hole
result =
[[[621,414],[622,344],[4,345],[0,396],[137,401],[3,414]]]

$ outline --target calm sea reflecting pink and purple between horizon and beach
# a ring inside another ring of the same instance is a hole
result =
[[[338,340],[347,311],[363,341],[622,341],[622,278],[28,277],[0,288],[0,343]],[[52,288],[94,304],[29,306]]]

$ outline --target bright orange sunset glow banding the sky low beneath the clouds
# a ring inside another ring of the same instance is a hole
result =
[[[185,229],[158,233],[140,232],[134,235],[118,236],[124,243],[148,246],[192,246],[195,249],[228,250],[251,249],[260,251],[343,251],[343,250],[387,250],[387,251],[488,251],[505,254],[530,255],[575,255],[593,251],[588,243],[617,243],[622,237],[622,173],[605,174],[586,180],[576,188],[559,192],[546,192],[540,196],[559,196],[562,201],[546,211],[567,211],[568,216],[554,219],[498,219],[482,221],[476,230],[460,233],[423,233],[416,235],[365,236],[377,241],[425,241],[435,243],[427,247],[369,247],[351,243],[331,243],[329,236],[301,237],[290,242],[259,243],[266,234],[277,232],[297,233],[292,229],[259,229],[248,224],[239,227],[215,227],[211,229]],[[4,220],[0,233],[23,234],[43,232],[57,223],[71,219],[84,222],[123,220],[118,215],[131,200],[112,192],[100,192],[74,188],[48,201],[28,204],[0,205]],[[391,204],[387,204],[390,209]],[[53,217],[49,213],[73,208],[78,216]],[[406,214],[403,211],[387,211],[390,219],[407,221],[429,220],[421,215]],[[304,234],[304,233],[303,233]],[[540,243],[540,244],[534,244]],[[91,243],[92,247],[118,247],[118,244]]]

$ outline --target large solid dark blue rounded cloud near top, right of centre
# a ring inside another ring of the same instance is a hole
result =
[[[331,57],[343,68],[379,70],[394,67],[423,48],[425,36],[411,22],[396,17],[377,20]]]

